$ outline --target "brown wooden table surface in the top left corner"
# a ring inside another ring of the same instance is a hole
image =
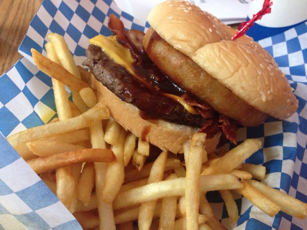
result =
[[[0,75],[21,55],[17,49],[43,0],[0,1]]]

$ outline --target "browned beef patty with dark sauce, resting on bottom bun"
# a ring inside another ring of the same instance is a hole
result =
[[[144,86],[125,67],[110,59],[99,46],[89,45],[86,56],[83,65],[88,66],[95,78],[122,101],[137,106],[143,113],[142,117],[165,119],[194,127],[201,127],[205,123],[201,115],[189,113],[174,99]]]

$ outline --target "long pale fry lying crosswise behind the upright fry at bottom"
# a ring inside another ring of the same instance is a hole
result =
[[[231,174],[202,175],[200,177],[200,192],[242,187],[243,185],[238,178]],[[162,197],[182,196],[184,193],[185,178],[155,182],[118,194],[113,201],[113,208],[117,210]]]

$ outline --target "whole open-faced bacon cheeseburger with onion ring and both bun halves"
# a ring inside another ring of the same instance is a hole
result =
[[[298,101],[273,57],[249,36],[187,1],[167,1],[148,15],[143,33],[114,14],[111,36],[90,39],[85,79],[111,116],[142,140],[182,153],[196,132],[206,150],[240,126],[290,117]]]

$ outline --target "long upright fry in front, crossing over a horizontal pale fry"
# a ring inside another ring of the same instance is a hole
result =
[[[188,158],[185,159],[186,182],[185,182],[185,214],[187,229],[198,229],[198,209],[200,191],[200,168],[204,144],[205,133],[196,133],[192,136]],[[205,154],[207,155],[207,154]]]

